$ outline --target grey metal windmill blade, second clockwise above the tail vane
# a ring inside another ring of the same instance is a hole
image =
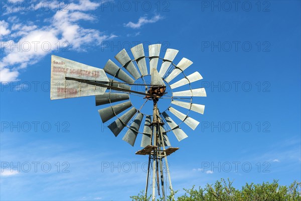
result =
[[[115,59],[135,78],[138,79],[140,74],[131,61],[125,49],[116,54]]]

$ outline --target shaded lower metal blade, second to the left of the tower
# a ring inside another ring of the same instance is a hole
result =
[[[138,113],[132,124],[130,125],[129,129],[125,133],[122,140],[130,144],[131,146],[134,146],[136,137],[138,134],[138,130],[140,128],[141,122],[143,119],[143,115],[141,113]]]

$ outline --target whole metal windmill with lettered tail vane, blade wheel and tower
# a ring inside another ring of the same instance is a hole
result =
[[[199,122],[188,114],[190,111],[203,114],[205,106],[193,103],[193,97],[206,96],[204,88],[192,88],[192,82],[203,78],[200,73],[184,73],[192,61],[182,58],[174,64],[179,51],[167,49],[162,58],[160,50],[161,44],[149,45],[148,56],[145,56],[143,45],[139,44],[131,48],[134,57],[131,59],[123,49],[115,56],[121,67],[109,59],[103,69],[55,55],[51,60],[51,99],[95,95],[96,106],[106,106],[98,110],[100,118],[103,123],[113,120],[108,128],[116,137],[125,131],[122,140],[134,146],[137,136],[142,136],[143,149],[136,154],[148,156],[145,197],[152,194],[153,200],[157,195],[166,200],[167,186],[173,190],[167,156],[179,148],[171,147],[168,133],[174,133],[178,141],[187,138],[180,124],[196,129]],[[149,60],[148,67],[146,60]],[[157,67],[159,60],[162,61],[160,68]],[[183,78],[170,84],[179,75]],[[136,90],[139,87],[144,87],[143,91]],[[174,91],[178,87],[187,89]],[[140,107],[133,105],[133,95],[143,100]],[[159,103],[166,99],[171,104],[162,110]],[[148,108],[148,112],[152,111],[150,114],[142,110],[146,103],[152,104],[152,109]],[[176,107],[186,110],[186,114]],[[176,116],[179,123],[170,114]]]

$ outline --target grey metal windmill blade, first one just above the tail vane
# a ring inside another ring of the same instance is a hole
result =
[[[126,82],[126,83],[134,83],[133,78],[131,78],[128,74],[126,74],[122,69],[120,69],[112,60],[108,60],[105,64],[103,70],[116,78]]]

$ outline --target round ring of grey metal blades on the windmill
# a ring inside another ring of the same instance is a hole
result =
[[[177,139],[180,141],[187,137],[184,131],[179,127],[183,122],[191,127],[193,130],[196,129],[199,122],[189,117],[190,111],[194,111],[200,114],[204,114],[205,106],[194,104],[194,96],[206,96],[206,91],[204,88],[193,89],[191,83],[202,79],[203,77],[199,72],[194,72],[186,76],[184,70],[187,69],[193,62],[187,58],[182,58],[180,62],[176,65],[173,63],[175,57],[178,54],[178,50],[167,49],[164,58],[160,57],[161,44],[153,44],[148,46],[148,56],[144,54],[143,44],[138,44],[130,49],[134,59],[132,60],[125,49],[122,49],[115,56],[115,59],[120,63],[121,67],[118,67],[113,61],[108,60],[104,67],[104,71],[113,76],[109,78],[109,82],[112,86],[122,87],[130,89],[132,85],[135,85],[137,79],[142,78],[144,85],[146,85],[144,76],[150,75],[153,84],[160,83],[161,85],[168,85],[171,90],[170,97],[163,97],[171,99],[169,107],[160,113],[162,115],[161,119],[166,122],[162,128],[164,131],[164,143],[170,145],[169,139],[167,137],[168,132],[173,132]],[[149,59],[149,69],[147,69],[146,60]],[[159,60],[162,61],[161,67],[158,68]],[[125,70],[124,70],[125,69]],[[149,74],[148,74],[149,72]],[[154,73],[153,73],[154,72]],[[128,74],[129,73],[129,74]],[[153,75],[154,74],[154,75]],[[175,79],[178,75],[183,74],[184,78],[170,84],[170,82]],[[132,78],[133,77],[133,78]],[[119,79],[124,82],[115,81],[114,79]],[[162,78],[162,79],[161,79]],[[164,80],[164,81],[163,81]],[[148,87],[151,87],[151,84]],[[165,82],[165,83],[164,83]],[[155,84],[155,85],[156,85]],[[143,85],[143,84],[142,84]],[[188,90],[173,91],[180,86],[189,86]],[[142,134],[141,146],[148,145],[150,142],[151,133],[150,122],[153,115],[143,114],[141,112],[144,107],[144,103],[140,109],[135,108],[132,105],[129,93],[115,92],[112,88],[108,88],[109,92],[104,93],[104,95],[96,96],[96,105],[110,104],[110,107],[99,110],[99,114],[103,122],[108,121],[114,116],[117,118],[109,128],[117,136],[121,130],[127,128],[127,132],[123,136],[123,140],[128,142],[130,145],[134,145],[137,134]],[[129,100],[128,100],[129,99]],[[124,102],[123,100],[128,100]],[[119,104],[113,105],[112,103],[121,102]],[[146,100],[147,101],[147,100]],[[173,108],[171,105],[176,107],[181,107],[182,109],[187,109],[187,112],[182,113],[177,109]],[[126,111],[118,116],[123,111]],[[179,124],[176,124],[167,112],[175,115],[181,120]],[[144,122],[142,122],[144,120]],[[142,131],[139,128],[143,124]],[[170,127],[170,129],[165,129]]]

